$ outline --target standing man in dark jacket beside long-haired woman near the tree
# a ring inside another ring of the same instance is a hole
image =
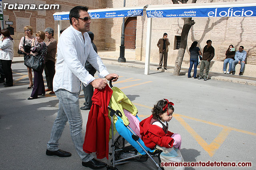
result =
[[[204,51],[203,51],[203,58],[202,58],[202,62],[200,65],[200,73],[198,79],[203,79],[206,81],[207,80],[207,76],[208,76],[208,72],[210,69],[210,62],[214,57],[214,48],[212,47],[212,41],[209,39],[206,41],[206,46],[204,46]],[[205,75],[203,75],[204,73],[204,66],[205,66]]]

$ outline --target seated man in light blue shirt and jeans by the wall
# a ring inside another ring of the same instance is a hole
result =
[[[236,64],[241,64],[239,76],[242,75],[242,72],[244,71],[244,67],[245,67],[245,59],[246,59],[246,51],[244,51],[243,46],[240,46],[239,50],[236,51],[235,60],[232,62],[232,68],[231,68],[232,74],[236,73]]]

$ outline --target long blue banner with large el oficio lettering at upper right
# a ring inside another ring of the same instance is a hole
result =
[[[176,17],[251,17],[256,16],[256,6],[228,8],[190,8],[174,10],[147,10],[148,18]]]

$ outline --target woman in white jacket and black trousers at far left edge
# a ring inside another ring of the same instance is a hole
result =
[[[2,39],[0,40],[0,63],[2,65],[2,69],[4,71],[4,76],[6,79],[6,83],[4,83],[4,87],[13,86],[12,80],[12,59],[13,59],[13,45],[14,40],[10,36],[10,31],[8,29],[1,30]]]

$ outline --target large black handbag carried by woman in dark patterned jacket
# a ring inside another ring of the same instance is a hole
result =
[[[28,68],[40,71],[41,68],[44,67],[44,57],[42,56],[42,54],[38,56],[26,55],[24,57],[24,63]]]

